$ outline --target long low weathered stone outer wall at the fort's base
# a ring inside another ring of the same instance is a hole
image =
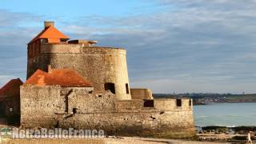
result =
[[[63,89],[73,89],[68,97],[68,112]],[[186,138],[194,136],[191,100],[156,99],[146,107],[140,99],[114,101],[110,91],[98,97],[93,88],[59,86],[21,86],[22,128],[98,129],[105,134]],[[76,114],[72,109],[77,108]]]

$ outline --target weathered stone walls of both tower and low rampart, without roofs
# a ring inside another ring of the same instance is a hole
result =
[[[126,50],[78,44],[42,45],[41,54],[28,59],[28,77],[35,70],[72,69],[94,88],[60,86],[21,87],[23,128],[102,129],[106,134],[180,138],[194,136],[190,100],[153,100],[149,91],[131,98]],[[113,91],[106,83],[114,83]],[[128,85],[128,87],[126,87]],[[145,96],[146,95],[146,96]],[[150,99],[144,101],[142,99]]]

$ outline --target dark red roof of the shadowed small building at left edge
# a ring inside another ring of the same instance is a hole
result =
[[[19,78],[10,80],[0,89],[0,97],[19,96],[19,86],[22,84],[23,82]]]

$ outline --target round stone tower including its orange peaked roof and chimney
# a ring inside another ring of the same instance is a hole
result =
[[[44,30],[28,43],[27,78],[38,69],[72,69],[94,85],[102,97],[111,91],[117,100],[131,99],[126,50],[94,46],[96,41],[73,40],[45,22]]]

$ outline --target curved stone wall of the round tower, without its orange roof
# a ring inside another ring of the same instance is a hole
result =
[[[117,100],[131,99],[126,50],[83,44],[42,44],[41,52],[28,58],[27,78],[38,69],[76,70],[92,82],[94,94],[104,94],[105,84],[114,83]]]

